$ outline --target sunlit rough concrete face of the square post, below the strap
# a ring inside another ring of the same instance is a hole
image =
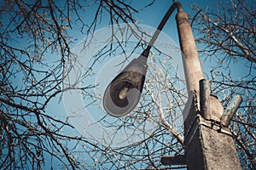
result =
[[[241,169],[236,146],[230,135],[205,126],[199,128],[199,133],[205,169]]]

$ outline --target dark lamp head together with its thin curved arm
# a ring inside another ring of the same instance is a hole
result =
[[[183,20],[188,19],[187,14],[183,12],[181,4],[179,2],[173,3],[166,12],[164,18],[160,21],[160,25],[150,39],[148,47],[137,59],[133,59],[131,63],[108,84],[108,88],[106,88],[103,97],[103,106],[108,114],[112,116],[125,116],[136,107],[143,91],[143,84],[148,69],[147,59],[150,48],[154,45],[156,38],[159,36],[162,28],[166,25],[166,21],[170,18],[175,8],[177,8],[177,13],[181,16],[177,18],[177,22],[179,22],[180,25],[183,24]],[[178,26],[178,29],[179,28],[180,27]],[[193,35],[192,38],[194,39]],[[195,44],[192,44],[191,47],[195,48]],[[195,61],[197,61],[196,64],[200,64],[199,59],[195,59]],[[202,71],[199,75],[202,75],[203,77]]]

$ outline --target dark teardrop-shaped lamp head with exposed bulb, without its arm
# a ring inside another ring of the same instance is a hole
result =
[[[143,84],[148,69],[146,61],[147,59],[143,59],[142,56],[133,59],[108,84],[108,88],[103,96],[103,106],[108,114],[112,116],[125,116],[136,107],[143,91]]]

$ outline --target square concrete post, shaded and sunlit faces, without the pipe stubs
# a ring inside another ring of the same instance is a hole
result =
[[[188,169],[241,170],[230,128],[221,127],[220,122],[216,120],[204,119],[200,115],[197,96],[195,93],[188,117],[184,122]],[[218,108],[214,110],[217,115],[220,114]],[[223,108],[220,107],[219,111],[223,113]]]

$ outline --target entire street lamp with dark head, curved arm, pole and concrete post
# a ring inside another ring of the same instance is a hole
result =
[[[103,106],[112,116],[125,116],[137,105],[148,69],[149,50],[175,8],[178,38],[183,52],[183,70],[189,94],[189,101],[183,111],[185,156],[162,156],[162,164],[186,164],[189,170],[240,170],[229,124],[241,104],[241,96],[232,99],[224,111],[218,98],[209,93],[210,84],[204,79],[188,14],[183,12],[178,2],[168,9],[143,53],[133,59],[109,83],[103,97]]]

